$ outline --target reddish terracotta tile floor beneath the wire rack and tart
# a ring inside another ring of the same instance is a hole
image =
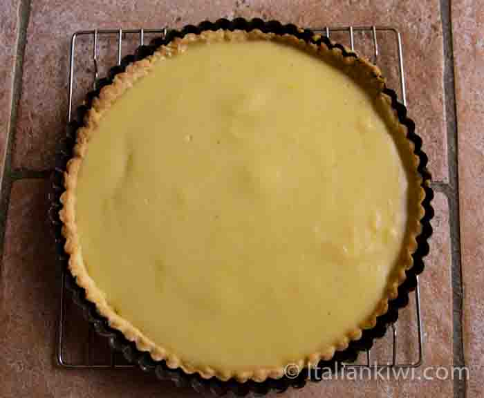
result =
[[[195,395],[141,372],[64,370],[55,365],[59,272],[46,225],[48,176],[64,133],[70,35],[92,28],[180,27],[218,17],[263,17],[301,26],[381,24],[402,32],[411,117],[431,159],[436,199],[434,235],[421,278],[423,366],[469,366],[468,381],[331,381],[286,395],[364,397],[481,397],[484,387],[484,5],[478,0],[132,1],[10,0],[0,6],[0,396],[115,397],[142,392]],[[335,39],[347,40],[346,37]],[[382,41],[379,62],[389,84],[398,83],[391,41]],[[82,61],[74,102],[91,85],[92,66]],[[360,50],[368,41],[359,41]],[[134,46],[127,41],[123,51]],[[366,47],[365,47],[366,46]],[[100,56],[115,62],[115,41]],[[357,47],[357,50],[359,48]],[[392,69],[393,68],[393,69]],[[70,305],[70,304],[68,304]],[[76,307],[66,333],[69,359],[104,361],[109,351],[75,344],[89,335]],[[413,310],[400,322],[402,359],[416,346]],[[407,319],[405,319],[407,318]],[[28,325],[28,327],[26,327]],[[91,338],[95,339],[95,337]],[[387,339],[388,340],[388,339]],[[74,342],[74,343],[73,343]],[[69,345],[70,344],[70,345]],[[385,345],[387,344],[387,345]],[[377,351],[388,351],[388,341]],[[129,373],[127,373],[129,372]],[[127,377],[129,375],[129,377]],[[418,370],[422,379],[422,368]]]

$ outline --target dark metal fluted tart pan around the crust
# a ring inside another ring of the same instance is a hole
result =
[[[55,234],[55,245],[57,250],[57,258],[59,260],[59,266],[62,267],[62,271],[66,274],[66,287],[72,293],[73,300],[82,307],[86,319],[93,324],[96,332],[102,336],[109,338],[111,348],[118,350],[124,354],[124,357],[131,363],[135,363],[145,372],[154,372],[156,377],[160,380],[171,380],[176,383],[177,386],[192,386],[198,392],[212,392],[215,395],[225,395],[227,392],[233,392],[238,396],[245,396],[252,392],[255,395],[265,395],[271,390],[277,392],[283,392],[289,387],[302,388],[306,385],[308,379],[317,381],[322,379],[321,377],[314,377],[320,375],[314,375],[317,370],[310,370],[312,377],[308,377],[308,369],[302,370],[295,378],[284,376],[281,379],[266,379],[261,383],[248,380],[245,383],[240,383],[234,379],[228,381],[221,381],[216,377],[211,379],[203,379],[198,374],[187,375],[180,368],[170,369],[166,365],[165,361],[154,361],[151,359],[148,352],[141,352],[136,348],[136,345],[131,341],[128,341],[121,332],[110,328],[107,319],[101,316],[93,303],[88,301],[85,296],[84,289],[79,287],[75,283],[75,278],[68,271],[68,254],[64,252],[65,239],[62,236],[62,221],[59,220],[59,210],[62,208],[60,203],[60,196],[64,192],[64,171],[66,171],[66,164],[68,160],[73,156],[73,148],[75,145],[76,131],[82,126],[84,115],[86,111],[91,107],[92,101],[97,95],[99,95],[102,87],[111,84],[116,74],[122,73],[124,69],[133,61],[142,59],[151,55],[156,48],[168,44],[169,41],[175,37],[184,37],[188,33],[199,34],[203,30],[246,30],[259,29],[263,32],[273,32],[277,35],[290,34],[303,39],[304,41],[312,44],[324,44],[328,48],[338,48],[344,57],[357,57],[355,53],[348,51],[341,44],[335,44],[327,37],[319,37],[315,35],[311,30],[301,30],[295,25],[287,24],[283,25],[279,21],[263,21],[262,19],[252,19],[250,21],[243,18],[237,18],[233,21],[227,19],[218,19],[214,23],[210,21],[203,21],[198,26],[187,25],[181,30],[169,30],[166,37],[158,37],[153,39],[149,46],[140,46],[136,50],[134,55],[128,55],[122,59],[120,66],[111,68],[109,77],[101,79],[97,84],[97,90],[91,91],[86,96],[86,100],[82,106],[77,108],[77,113],[73,115],[73,122],[69,123],[66,128],[66,134],[64,140],[60,144],[59,151],[57,153],[57,159],[55,164],[55,171],[51,176],[51,189],[49,193],[50,209],[49,218],[53,226],[53,233]],[[412,254],[413,266],[406,271],[407,278],[398,287],[398,296],[396,299],[389,301],[388,312],[382,316],[378,316],[377,323],[374,328],[363,330],[362,338],[357,341],[351,341],[348,348],[342,351],[335,352],[334,357],[329,361],[319,361],[318,368],[325,370],[331,368],[337,371],[342,363],[351,363],[357,359],[358,352],[363,350],[369,350],[373,345],[373,340],[383,337],[387,331],[388,326],[394,323],[398,319],[398,310],[405,307],[409,303],[409,292],[415,290],[417,286],[416,276],[424,269],[423,258],[429,253],[429,245],[427,240],[432,234],[432,227],[430,220],[434,216],[434,209],[431,207],[431,200],[434,198],[434,192],[429,187],[431,175],[427,171],[427,155],[422,151],[422,140],[415,133],[415,124],[407,117],[407,108],[398,102],[395,91],[385,86],[385,94],[391,97],[391,106],[398,114],[398,120],[404,126],[407,126],[407,139],[414,144],[414,153],[419,159],[418,173],[422,177],[422,189],[425,191],[425,198],[422,200],[422,207],[425,209],[425,214],[420,220],[422,230],[420,235],[417,236],[417,248]],[[375,176],[378,178],[378,176]]]

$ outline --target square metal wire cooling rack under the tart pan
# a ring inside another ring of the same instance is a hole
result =
[[[365,34],[369,34],[371,36],[371,46],[373,54],[369,57],[375,64],[378,64],[378,61],[381,56],[381,46],[379,45],[380,40],[390,40],[389,42],[393,42],[393,48],[396,49],[396,53],[398,54],[398,79],[400,82],[400,98],[402,99],[402,103],[406,106],[407,105],[407,97],[405,92],[405,78],[404,78],[404,66],[403,66],[403,50],[402,50],[402,37],[400,32],[391,27],[391,26],[342,26],[342,27],[323,27],[323,28],[310,28],[314,32],[320,35],[326,35],[326,37],[331,37],[333,33],[343,33],[347,34],[347,38],[349,39],[349,46],[351,50],[355,50],[355,32],[362,32]],[[91,61],[93,65],[93,86],[94,88],[97,85],[98,80],[100,79],[100,59],[99,59],[99,44],[98,42],[102,38],[106,37],[117,37],[117,46],[118,46],[118,65],[121,64],[122,59],[122,43],[123,39],[126,39],[129,36],[132,38],[136,38],[138,35],[138,44],[142,45],[145,41],[145,35],[166,35],[167,28],[161,29],[112,29],[112,30],[80,30],[75,32],[71,37],[71,47],[69,50],[69,74],[68,74],[68,115],[67,120],[71,122],[72,111],[73,111],[73,90],[76,83],[76,73],[75,73],[75,50],[76,50],[76,43],[77,39],[81,37],[89,37],[92,42],[92,53],[91,53]],[[84,52],[82,54],[83,57],[89,57],[89,53]],[[68,292],[66,290],[66,271],[63,272],[61,278],[61,294],[60,294],[60,301],[59,301],[59,323],[57,329],[57,353],[56,353],[56,360],[59,366],[63,368],[97,368],[97,369],[109,369],[109,368],[132,368],[132,365],[124,365],[118,363],[115,359],[115,355],[111,354],[111,358],[107,363],[91,363],[88,359],[85,362],[74,363],[68,362],[65,359],[64,354],[64,330],[66,324],[69,322],[68,314],[66,314],[65,304],[66,304],[66,297],[68,297]],[[371,350],[366,351],[366,359],[361,363],[355,364],[348,364],[346,368],[418,368],[421,365],[423,359],[423,328],[422,328],[422,315],[420,311],[420,285],[417,276],[417,286],[415,290],[415,305],[416,305],[416,321],[415,321],[415,328],[416,328],[416,336],[418,339],[418,344],[416,346],[417,352],[414,352],[411,357],[416,358],[413,362],[398,362],[397,361],[397,347],[398,347],[398,322],[395,322],[391,325],[391,361],[383,362],[383,361],[372,361],[371,357]],[[403,311],[409,311],[409,308],[404,309]],[[91,333],[89,333],[88,339],[91,339]],[[83,344],[88,344],[90,341],[81,342]]]

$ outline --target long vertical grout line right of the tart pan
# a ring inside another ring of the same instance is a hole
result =
[[[452,37],[451,1],[440,0],[443,25],[444,94],[447,122],[447,158],[449,163],[449,188],[443,189],[449,202],[449,222],[452,247],[452,317],[454,366],[465,366],[463,345],[463,285],[460,258],[460,214],[458,191],[458,140],[456,120],[456,93],[454,77],[454,46]],[[454,379],[454,398],[466,397],[466,381]]]

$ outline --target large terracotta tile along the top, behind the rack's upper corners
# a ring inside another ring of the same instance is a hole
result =
[[[132,6],[129,1],[108,1],[102,6],[94,0],[32,1],[26,47],[24,92],[19,108],[19,126],[15,145],[15,167],[46,169],[53,165],[55,143],[62,135],[66,121],[66,70],[68,40],[75,30],[89,28],[155,28],[168,24],[180,27],[202,19],[218,17],[264,17],[293,21],[301,26],[342,26],[344,24],[375,23],[400,29],[404,42],[407,71],[407,97],[411,116],[425,140],[431,158],[430,168],[436,180],[447,180],[447,140],[443,106],[443,40],[440,22],[440,1],[412,2],[391,0],[369,1],[328,0],[324,5],[312,0],[221,0],[215,3],[178,1],[167,6],[165,1],[142,1]],[[395,50],[393,41],[379,37],[384,70],[389,70],[389,82],[395,86]],[[385,44],[387,42],[387,44]],[[81,49],[90,51],[84,41]],[[115,49],[107,50],[106,59],[115,61]],[[357,47],[358,48],[358,47]],[[388,52],[391,51],[391,54]],[[75,101],[84,96],[90,86],[91,63],[80,64],[80,87]]]

